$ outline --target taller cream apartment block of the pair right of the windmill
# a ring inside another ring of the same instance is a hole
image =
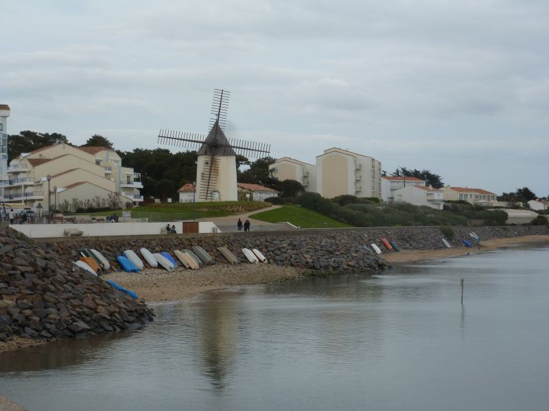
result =
[[[316,156],[316,192],[382,198],[382,163],[367,155],[333,147]]]

